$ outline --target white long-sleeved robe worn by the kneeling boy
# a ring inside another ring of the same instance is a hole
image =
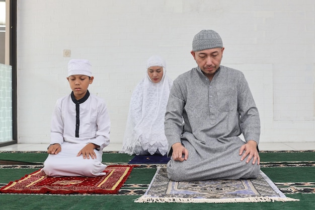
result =
[[[76,101],[80,104],[80,124],[76,128],[76,104],[71,95],[57,100],[51,122],[50,144],[60,144],[61,152],[49,154],[42,169],[48,176],[86,176],[105,175],[102,164],[103,148],[109,145],[110,118],[103,99],[87,95]],[[85,101],[82,101],[85,100]],[[75,132],[78,136],[75,137]],[[77,153],[87,144],[100,146],[94,150],[97,158],[83,159]]]

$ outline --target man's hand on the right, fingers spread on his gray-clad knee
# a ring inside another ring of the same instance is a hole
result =
[[[245,158],[248,156],[246,163],[249,163],[250,160],[254,157],[252,164],[254,165],[256,163],[256,161],[257,161],[257,165],[260,164],[260,157],[259,157],[259,154],[257,151],[257,143],[255,141],[250,140],[245,145],[243,145],[240,149],[239,155],[242,155],[242,154],[243,154],[243,156],[241,158],[241,161],[244,161]]]

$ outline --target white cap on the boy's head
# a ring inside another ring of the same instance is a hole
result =
[[[85,59],[71,59],[68,62],[68,77],[71,75],[86,75],[92,76],[92,65],[89,60]]]

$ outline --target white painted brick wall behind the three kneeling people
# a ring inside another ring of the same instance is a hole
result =
[[[95,76],[89,89],[106,99],[111,142],[121,143],[146,59],[165,57],[175,79],[196,66],[191,43],[202,29],[221,35],[222,64],[244,72],[261,141],[315,142],[314,7],[312,0],[20,0],[18,142],[49,143],[53,106],[70,93],[67,62],[86,58]]]

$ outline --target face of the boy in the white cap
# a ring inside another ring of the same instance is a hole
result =
[[[80,100],[86,95],[89,85],[93,83],[93,79],[94,77],[89,78],[86,75],[71,75],[67,77],[76,100]]]

